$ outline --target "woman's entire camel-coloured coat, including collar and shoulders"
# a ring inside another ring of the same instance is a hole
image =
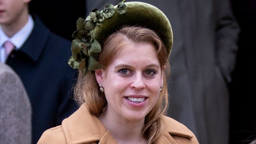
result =
[[[164,132],[157,144],[199,144],[183,124],[164,116]],[[38,144],[117,144],[112,135],[85,105],[62,121],[62,125],[46,130]]]

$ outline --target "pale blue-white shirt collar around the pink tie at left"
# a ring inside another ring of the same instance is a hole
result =
[[[16,48],[21,48],[21,46],[26,42],[26,40],[30,36],[33,28],[34,21],[31,15],[28,16],[28,22],[26,23],[26,25],[22,29],[20,29],[16,34],[14,34],[12,38],[6,36],[2,28],[0,27],[0,46],[3,46],[4,42],[9,40]]]

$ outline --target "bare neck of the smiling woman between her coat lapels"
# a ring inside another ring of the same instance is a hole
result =
[[[118,143],[146,144],[147,140],[143,138],[141,133],[144,120],[128,121],[116,115],[113,116],[106,109],[98,118]]]

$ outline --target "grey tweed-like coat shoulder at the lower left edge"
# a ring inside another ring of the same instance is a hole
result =
[[[18,75],[0,63],[0,143],[31,144],[31,106]]]

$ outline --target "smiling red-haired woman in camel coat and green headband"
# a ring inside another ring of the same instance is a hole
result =
[[[198,144],[186,126],[164,116],[172,30],[159,9],[107,5],[80,18],[77,28],[69,64],[80,70],[81,106],[38,143]]]

